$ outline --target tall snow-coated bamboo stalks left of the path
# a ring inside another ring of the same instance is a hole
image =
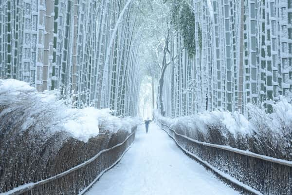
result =
[[[136,115],[139,32],[131,0],[1,0],[0,78],[61,89],[75,107]]]

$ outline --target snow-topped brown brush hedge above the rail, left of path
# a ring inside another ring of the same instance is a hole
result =
[[[64,172],[121,143],[141,123],[109,109],[68,108],[56,94],[0,79],[0,192]]]

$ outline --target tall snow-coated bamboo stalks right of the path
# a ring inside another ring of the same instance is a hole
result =
[[[248,103],[273,112],[292,97],[292,0],[188,0],[195,13],[195,55],[173,30],[164,85],[166,116]]]

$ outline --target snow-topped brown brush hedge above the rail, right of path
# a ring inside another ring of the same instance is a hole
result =
[[[249,119],[238,112],[215,110],[192,116],[155,117],[177,133],[202,142],[226,145],[260,155],[292,160],[292,105],[285,98],[274,113],[248,105]]]

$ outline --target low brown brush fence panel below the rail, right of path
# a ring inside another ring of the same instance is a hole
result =
[[[256,195],[292,194],[292,161],[200,142],[159,122],[184,152],[244,191]]]

